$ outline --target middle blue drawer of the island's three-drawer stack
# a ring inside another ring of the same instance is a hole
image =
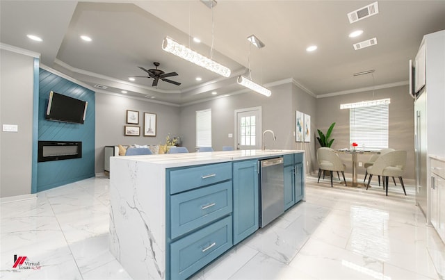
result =
[[[181,192],[170,198],[171,238],[232,213],[232,181]]]

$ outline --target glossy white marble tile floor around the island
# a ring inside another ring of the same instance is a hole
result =
[[[108,251],[108,188],[97,176],[0,204],[0,279],[131,279]],[[191,278],[445,279],[445,245],[406,188],[307,176],[305,202]],[[38,265],[13,269],[15,254]]]

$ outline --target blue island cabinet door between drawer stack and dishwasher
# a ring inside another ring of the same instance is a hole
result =
[[[259,228],[258,160],[233,163],[234,245]]]

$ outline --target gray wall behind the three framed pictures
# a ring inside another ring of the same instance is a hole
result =
[[[140,126],[140,136],[124,135],[127,110],[139,112],[139,124],[127,125]],[[156,137],[143,136],[144,113],[156,114]],[[165,144],[169,133],[179,135],[179,121],[176,106],[96,92],[95,172],[104,172],[104,146]]]

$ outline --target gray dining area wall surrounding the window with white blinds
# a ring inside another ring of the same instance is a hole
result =
[[[407,166],[403,178],[414,179],[414,101],[408,92],[408,85],[385,88],[373,92],[359,92],[343,94],[336,97],[317,99],[316,129],[326,132],[327,128],[336,122],[332,131],[335,138],[332,149],[348,148],[349,143],[349,110],[340,110],[340,104],[353,103],[364,100],[391,98],[389,104],[389,148],[407,151]],[[316,143],[316,148],[320,147]],[[359,162],[366,162],[370,156],[359,156]],[[352,158],[343,155],[341,159],[346,163],[346,170],[351,170]],[[350,172],[350,171],[349,171]],[[364,175],[364,168],[359,167],[357,173]]]

